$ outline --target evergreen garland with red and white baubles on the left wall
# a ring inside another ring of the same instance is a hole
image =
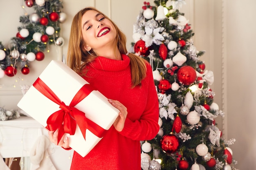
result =
[[[63,38],[59,37],[60,26],[66,19],[62,12],[61,0],[22,0],[34,13],[20,16],[22,26],[18,27],[16,37],[11,38],[8,47],[0,41],[0,78],[13,77],[17,68],[21,73],[29,73],[29,63],[44,59],[43,53],[49,45],[62,46]],[[23,4],[23,9],[27,8]]]

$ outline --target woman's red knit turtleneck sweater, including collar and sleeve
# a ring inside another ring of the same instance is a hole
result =
[[[122,59],[97,57],[83,78],[107,98],[126,106],[124,129],[118,132],[111,126],[84,158],[74,152],[71,170],[141,170],[140,141],[153,139],[159,130],[157,92],[148,63],[141,87],[130,88],[130,58],[122,54]]]

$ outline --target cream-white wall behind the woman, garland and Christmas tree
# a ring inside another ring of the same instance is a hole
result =
[[[153,4],[153,0],[148,0]],[[0,41],[7,43],[15,36],[19,16],[23,11],[20,0],[1,0],[0,2]],[[21,97],[18,86],[13,84],[31,84],[50,60],[58,59],[67,53],[72,16],[85,6],[95,6],[110,16],[127,35],[127,47],[132,42],[132,26],[136,21],[144,0],[63,0],[63,12],[67,20],[61,25],[61,36],[65,39],[63,50],[50,47],[45,60],[31,62],[29,75],[4,77],[0,79],[0,106],[15,108]],[[201,60],[206,69],[214,73],[211,86],[216,95],[215,102],[225,113],[225,119],[218,119],[219,127],[227,139],[235,138],[231,145],[233,157],[238,161],[236,168],[256,169],[256,137],[254,137],[254,115],[256,98],[254,87],[256,75],[254,65],[256,55],[256,1],[255,0],[186,0],[181,9],[195,31],[193,38],[198,50],[206,50]],[[13,12],[15,11],[15,12]],[[21,81],[23,78],[24,81]],[[15,82],[15,80],[19,80]]]

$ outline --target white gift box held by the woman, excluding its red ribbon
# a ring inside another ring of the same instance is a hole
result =
[[[80,75],[61,61],[52,60],[39,78],[56,94],[56,96],[67,106],[73,97],[84,84],[88,84]],[[60,106],[40,93],[34,86],[31,86],[17,105],[36,121],[47,126],[47,119],[52,113],[60,110]],[[108,99],[99,91],[92,91],[75,108],[85,113],[90,119],[101,128],[108,130],[118,116],[119,110],[113,107]],[[86,140],[84,139],[79,126],[76,124],[74,135],[69,135],[70,147],[82,157],[94,148],[102,139],[86,129]]]

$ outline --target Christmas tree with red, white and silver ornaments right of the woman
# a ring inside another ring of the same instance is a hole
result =
[[[157,136],[141,141],[143,170],[236,170],[215,123],[224,116],[213,101],[213,72],[200,60],[193,31],[179,9],[184,0],[144,2],[134,24],[132,49],[148,60],[159,99]]]

